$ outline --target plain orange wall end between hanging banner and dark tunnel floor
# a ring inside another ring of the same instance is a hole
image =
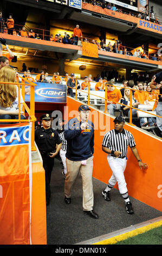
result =
[[[47,245],[45,174],[41,162],[32,163],[31,243]]]

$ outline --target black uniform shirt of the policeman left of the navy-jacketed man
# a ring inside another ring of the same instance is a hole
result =
[[[53,129],[38,129],[35,131],[35,142],[40,151],[47,153],[54,152],[56,150],[56,144],[61,143],[59,133]]]

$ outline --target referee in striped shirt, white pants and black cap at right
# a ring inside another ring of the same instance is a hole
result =
[[[124,170],[127,163],[127,148],[128,145],[131,148],[133,155],[139,163],[140,169],[142,167],[147,168],[146,163],[142,163],[138,150],[135,147],[134,138],[131,132],[123,129],[125,125],[124,118],[119,115],[114,119],[114,130],[111,130],[105,134],[102,141],[102,150],[107,153],[107,161],[109,167],[111,168],[113,174],[108,181],[108,185],[103,190],[102,195],[106,201],[110,201],[109,191],[114,187],[116,181],[118,182],[119,191],[122,198],[124,198],[126,203],[126,212],[128,214],[133,214],[132,204],[129,200],[127,184],[125,181]]]

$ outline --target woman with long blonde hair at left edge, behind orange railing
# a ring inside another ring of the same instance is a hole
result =
[[[4,66],[0,70],[0,82],[15,83],[16,71],[10,66]],[[21,113],[23,102],[20,90]],[[16,84],[0,83],[0,119],[18,119],[18,87]],[[21,115],[21,119],[25,119],[24,115]]]

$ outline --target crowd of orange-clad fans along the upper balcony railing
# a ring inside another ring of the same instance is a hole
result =
[[[0,13],[0,32],[11,34],[11,35],[23,36],[25,38],[42,39],[39,34],[33,31],[33,29],[30,29],[30,31],[27,32],[25,31],[25,27],[23,27],[23,28],[20,28],[18,32],[16,32],[14,28],[14,19],[12,19],[11,15],[9,16],[9,19],[7,19],[7,26],[5,26],[5,20],[2,17],[2,13]],[[98,49],[101,51],[114,52],[119,54],[125,54],[128,56],[148,59],[148,56],[145,51],[142,53],[140,50],[137,49],[133,54],[132,49],[131,48],[127,49],[124,45],[122,45],[122,42],[120,40],[115,40],[114,44],[111,44],[111,41],[109,41],[108,44],[106,45],[106,42],[104,39],[101,39],[100,41],[94,40],[94,39],[89,40],[88,38],[83,39],[82,32],[81,32],[81,29],[79,28],[79,25],[76,25],[76,27],[74,28],[74,33],[71,34],[71,36],[67,32],[64,32],[63,36],[60,33],[57,33],[55,36],[51,34],[49,38],[47,36],[44,36],[43,39],[49,40],[51,42],[60,42],[63,44],[72,44],[72,45],[78,45],[78,46],[82,46],[82,41],[90,42],[91,44],[97,45]],[[152,57],[152,60],[158,60],[155,54]]]

